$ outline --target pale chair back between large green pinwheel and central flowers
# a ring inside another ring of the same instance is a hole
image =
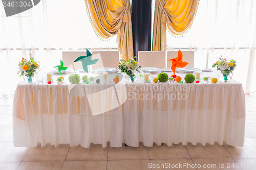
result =
[[[119,51],[94,51],[92,59],[99,59],[92,69],[101,67],[112,67],[118,69]]]

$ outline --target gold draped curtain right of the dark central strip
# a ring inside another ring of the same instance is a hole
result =
[[[199,0],[156,0],[153,51],[166,50],[166,27],[175,35],[184,34],[193,22]]]

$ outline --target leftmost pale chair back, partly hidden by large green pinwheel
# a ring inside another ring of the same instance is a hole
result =
[[[86,51],[85,52],[62,52],[62,61],[64,63],[64,66],[68,66],[73,69],[81,69],[82,68],[81,62],[74,63],[74,61],[79,56],[86,56]]]

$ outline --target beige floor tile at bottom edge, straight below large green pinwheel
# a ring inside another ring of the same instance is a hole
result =
[[[105,170],[106,160],[100,161],[65,161],[62,170],[69,169],[93,169],[93,170]]]

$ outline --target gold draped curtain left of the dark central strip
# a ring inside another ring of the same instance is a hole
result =
[[[84,0],[95,31],[102,38],[117,34],[122,58],[133,58],[130,0]]]

